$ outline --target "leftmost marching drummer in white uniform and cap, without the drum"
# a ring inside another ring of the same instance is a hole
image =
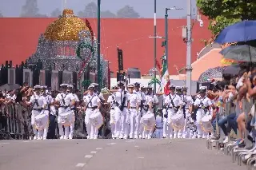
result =
[[[41,140],[41,132],[37,131],[37,126],[35,123],[35,117],[37,117],[39,114],[43,112],[43,109],[46,109],[46,98],[43,97],[40,93],[40,90],[42,87],[40,85],[34,86],[34,95],[30,97],[30,101],[26,102],[27,105],[32,105],[32,115],[31,115],[31,125],[34,132],[34,140]],[[44,134],[45,135],[45,134]],[[44,136],[46,139],[46,136]]]

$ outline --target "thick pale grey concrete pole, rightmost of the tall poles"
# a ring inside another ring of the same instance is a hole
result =
[[[188,88],[188,94],[191,95],[191,0],[187,0],[186,33],[186,87]]]

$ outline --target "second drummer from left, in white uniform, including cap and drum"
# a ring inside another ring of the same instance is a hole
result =
[[[71,111],[75,105],[74,96],[68,93],[68,85],[60,85],[62,88],[62,93],[58,93],[55,98],[55,104],[59,105],[58,107],[58,129],[60,134],[60,139],[72,139],[73,134],[69,136],[69,128],[74,128],[72,122],[74,121],[74,113]],[[65,136],[62,126],[65,128]]]

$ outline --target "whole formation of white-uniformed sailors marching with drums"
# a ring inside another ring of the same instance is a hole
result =
[[[32,109],[34,140],[54,138],[54,132],[50,132],[55,131],[54,118],[58,121],[59,139],[73,139],[75,112],[84,115],[87,139],[98,139],[99,128],[103,125],[109,126],[113,139],[205,138],[210,135],[202,126],[203,117],[212,114],[212,102],[206,97],[204,86],[197,96],[191,97],[186,94],[185,86],[170,85],[169,94],[154,94],[151,86],[118,81],[106,99],[98,92],[96,83],[91,84],[80,99],[73,85],[60,87],[62,92],[52,97],[46,86],[36,85],[34,95],[26,101]],[[106,114],[102,113],[102,105],[108,106]]]

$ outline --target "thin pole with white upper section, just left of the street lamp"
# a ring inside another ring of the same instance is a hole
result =
[[[157,0],[154,0],[154,93],[157,93],[156,77],[156,60],[157,60]]]

